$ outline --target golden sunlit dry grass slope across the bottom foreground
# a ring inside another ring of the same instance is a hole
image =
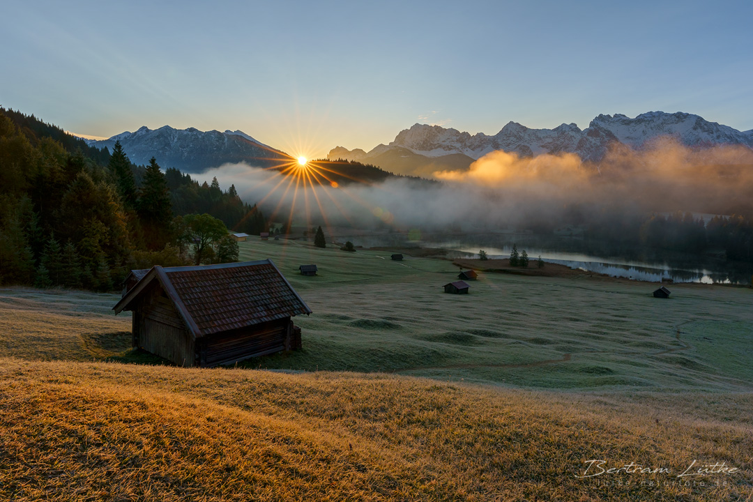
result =
[[[17,359],[0,367],[3,500],[746,500],[753,492],[750,394],[611,396]],[[672,475],[578,479],[590,459]],[[694,459],[740,471],[681,485],[675,476]]]

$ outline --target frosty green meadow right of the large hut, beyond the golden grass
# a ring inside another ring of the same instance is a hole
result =
[[[753,290],[486,273],[468,295],[448,260],[389,251],[242,242],[273,257],[314,313],[303,351],[255,367],[383,371],[526,388],[747,390],[753,385]],[[316,263],[319,275],[297,266]],[[563,361],[566,360],[566,361]]]

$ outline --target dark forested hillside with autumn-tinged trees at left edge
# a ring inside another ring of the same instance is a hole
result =
[[[267,222],[216,178],[165,175],[154,158],[134,166],[119,144],[89,148],[0,108],[0,284],[109,291],[131,268],[236,259],[227,228]]]

